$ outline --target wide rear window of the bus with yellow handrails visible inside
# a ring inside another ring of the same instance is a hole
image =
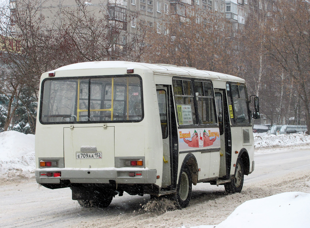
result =
[[[139,122],[141,93],[138,76],[48,78],[43,82],[40,121]]]

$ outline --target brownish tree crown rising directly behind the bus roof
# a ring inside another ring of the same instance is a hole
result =
[[[186,18],[171,15],[148,33],[149,48],[144,59],[231,73],[229,26],[223,17],[199,11]]]

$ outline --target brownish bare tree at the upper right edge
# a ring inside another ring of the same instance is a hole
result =
[[[310,129],[310,5],[308,1],[277,1],[275,20],[266,36],[269,56],[296,84]]]

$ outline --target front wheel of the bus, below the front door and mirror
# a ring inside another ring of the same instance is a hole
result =
[[[244,179],[244,166],[242,160],[240,159],[236,167],[235,177],[233,177],[229,183],[224,184],[225,191],[228,194],[241,192],[243,187],[243,179]]]

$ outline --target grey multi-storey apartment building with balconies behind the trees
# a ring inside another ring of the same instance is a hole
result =
[[[12,31],[16,31],[14,13],[16,1],[10,0]],[[141,26],[156,29],[158,34],[167,34],[165,18],[169,14],[178,15],[180,20],[192,16],[194,10],[206,14],[216,14],[226,17],[234,27],[244,25],[248,0],[49,0],[39,2],[39,10],[46,23],[60,23],[64,10],[79,10],[85,7],[98,17],[106,17],[107,23],[117,25],[122,30],[118,37],[119,45],[130,41],[130,34],[137,34]],[[197,17],[199,20],[199,17]],[[127,22],[127,23],[125,23]],[[128,23],[129,22],[129,23]],[[199,21],[198,21],[199,22]]]

